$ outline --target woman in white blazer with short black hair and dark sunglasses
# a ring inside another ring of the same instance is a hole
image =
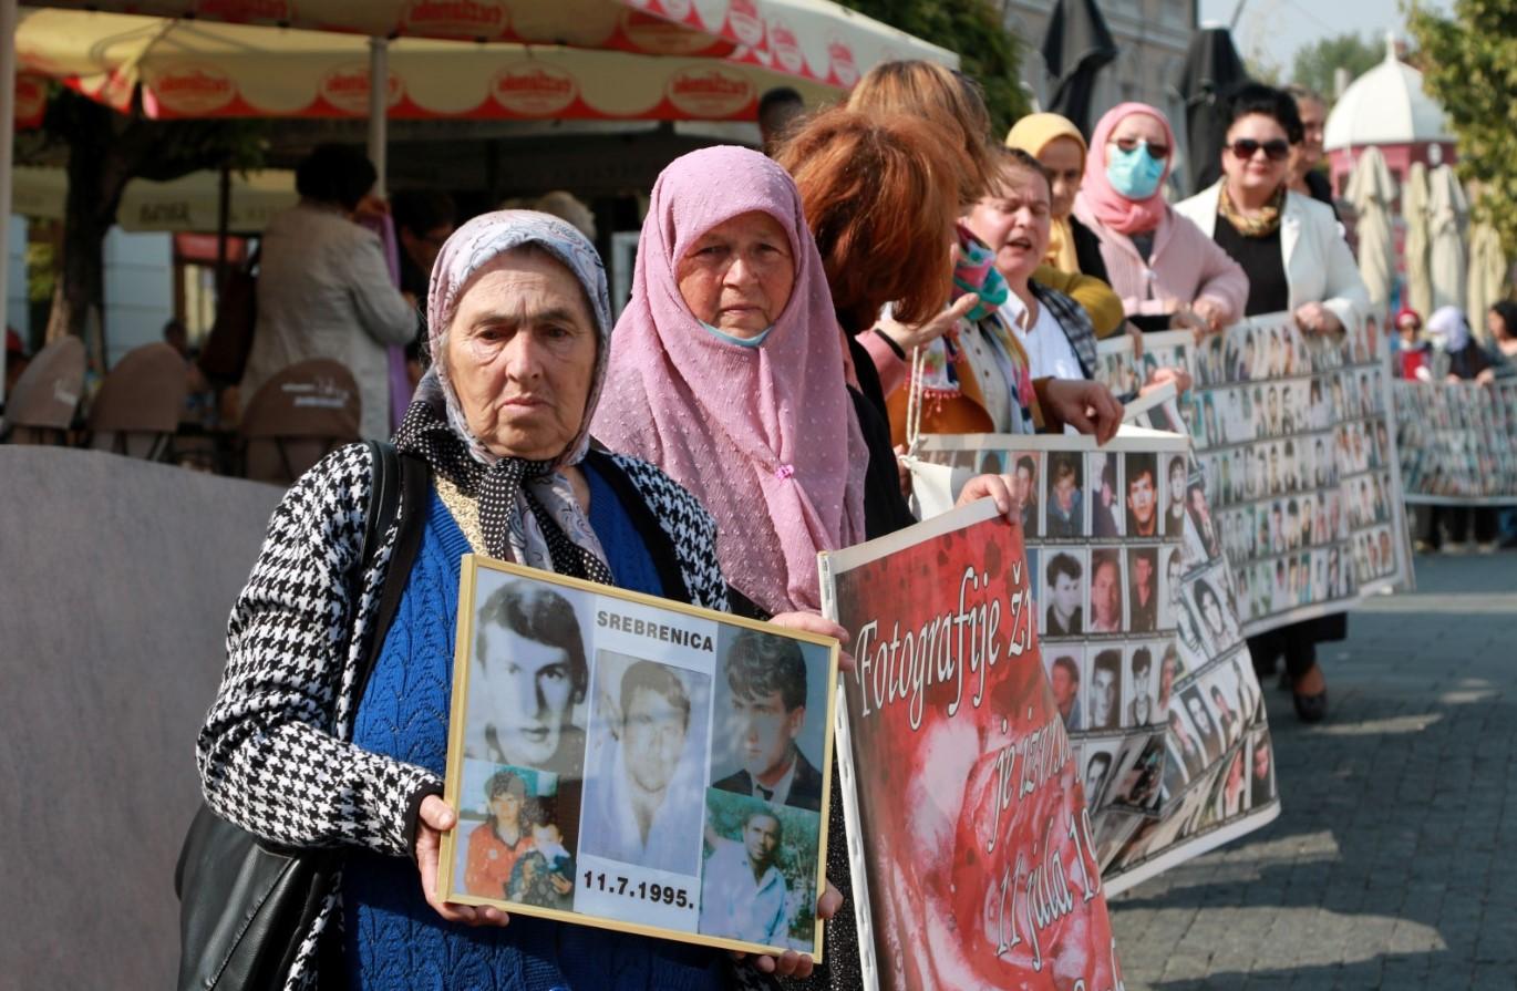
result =
[[[1223,178],[1174,209],[1248,273],[1244,316],[1288,310],[1308,334],[1343,334],[1368,313],[1370,294],[1332,208],[1289,190],[1291,146],[1302,137],[1289,94],[1241,88],[1223,146]],[[1285,657],[1296,713],[1306,722],[1327,715],[1317,643],[1341,640],[1347,628],[1347,618],[1336,613],[1248,637],[1261,674],[1271,674]]]

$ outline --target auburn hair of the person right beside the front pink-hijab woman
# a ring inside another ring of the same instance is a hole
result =
[[[884,304],[921,323],[948,296],[948,244],[959,216],[960,156],[919,117],[884,118],[834,108],[809,120],[775,155],[801,190],[833,291],[850,332],[874,326]]]

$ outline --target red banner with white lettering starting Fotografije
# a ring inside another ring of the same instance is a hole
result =
[[[819,555],[865,991],[1120,988],[1019,528],[989,499]]]

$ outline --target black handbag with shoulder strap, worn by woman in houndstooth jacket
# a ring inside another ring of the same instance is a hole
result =
[[[402,490],[408,505],[422,505],[417,496],[425,496],[423,487],[428,483],[425,463],[400,458],[388,443],[372,440],[369,449],[375,478],[363,557],[353,580],[355,592],[361,587],[379,540],[396,519]],[[404,463],[411,464],[402,469]],[[388,627],[405,589],[423,516],[425,513],[411,511],[402,518],[379,598],[379,615],[363,653],[355,712],[378,650],[384,645],[382,627]],[[350,596],[350,601],[358,601],[358,596]],[[252,991],[281,986],[340,867],[341,854],[337,850],[279,847],[228,823],[202,801],[174,868],[174,892],[179,895],[179,989]]]

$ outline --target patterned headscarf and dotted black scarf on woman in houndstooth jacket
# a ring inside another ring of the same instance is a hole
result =
[[[579,433],[563,452],[543,461],[498,457],[469,429],[458,393],[443,363],[444,340],[458,302],[473,278],[511,250],[532,246],[561,263],[584,288],[595,319],[596,358]],[[572,226],[529,209],[482,214],[458,228],[432,266],[426,304],[432,367],[417,387],[394,440],[479,502],[485,551],[529,568],[611,583],[605,551],[563,470],[584,460],[590,416],[601,399],[610,354],[611,308],[605,267]]]

